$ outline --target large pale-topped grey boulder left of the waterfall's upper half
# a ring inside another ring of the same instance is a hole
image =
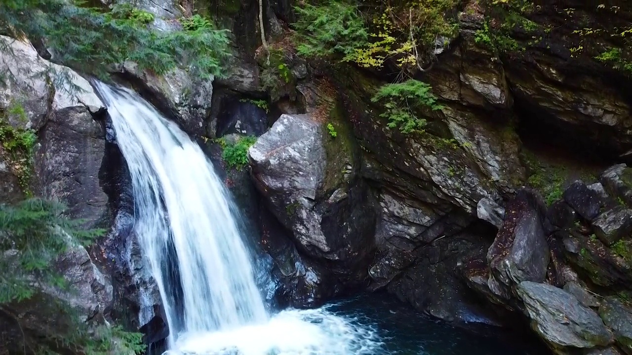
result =
[[[6,73],[0,110],[22,107],[23,115],[8,115],[9,124],[38,135],[33,192],[66,203],[72,217],[95,222],[107,212],[107,196],[99,185],[103,129],[95,121],[104,105],[90,83],[71,69],[42,59],[28,43],[0,40],[11,49],[0,52]]]

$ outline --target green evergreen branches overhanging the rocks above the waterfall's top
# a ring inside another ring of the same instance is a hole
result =
[[[199,16],[182,19],[174,31],[155,30],[153,21],[129,4],[102,9],[80,0],[8,0],[0,7],[0,34],[41,41],[54,61],[84,73],[104,77],[109,66],[129,60],[158,74],[182,66],[203,78],[222,75],[226,30]]]

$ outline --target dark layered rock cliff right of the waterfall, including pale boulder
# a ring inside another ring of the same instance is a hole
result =
[[[293,26],[288,2],[270,7]],[[506,30],[494,28],[497,14],[485,4],[464,2],[456,38],[432,69],[415,74],[432,84],[443,105],[424,112],[428,125],[417,135],[387,128],[384,107],[371,100],[388,76],[317,61],[304,75],[301,59],[286,52],[290,71],[301,74],[293,77],[295,91],[279,100],[272,95],[287,115],[250,158],[253,179],[291,232],[298,255],[325,270],[313,287],[326,291],[312,288],[311,294],[347,291],[326,270],[336,265],[329,254],[353,250],[353,241],[337,247],[331,241],[346,240],[337,233],[356,219],[338,214],[337,231],[314,223],[319,193],[329,199],[336,193],[319,185],[329,155],[303,127],[331,123],[337,129],[342,121],[351,132],[344,136],[358,147],[350,174],[368,186],[366,203],[375,211],[374,232],[362,231],[372,245],[365,250],[372,254],[367,272],[347,268],[346,277],[365,277],[368,289],[386,289],[446,320],[502,324],[517,317],[559,354],[626,351],[624,340],[612,335],[617,325],[600,311],[603,297],[628,297],[628,263],[617,253],[626,253],[631,228],[630,181],[621,177],[628,168],[607,168],[628,162],[632,81],[620,65],[595,59],[609,47],[623,48],[621,56],[628,57],[621,41],[603,33],[629,27],[631,14],[609,11],[554,1],[526,15],[534,30]],[[487,25],[518,50],[482,43]],[[588,40],[586,28],[601,34]],[[323,116],[323,97],[339,110],[325,106]],[[337,155],[346,154],[343,141],[336,147]],[[296,202],[300,214],[288,214]],[[281,265],[285,254],[272,255]],[[356,262],[362,258],[358,253]],[[568,322],[556,318],[561,313]]]

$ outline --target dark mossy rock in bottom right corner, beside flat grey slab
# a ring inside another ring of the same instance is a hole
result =
[[[617,298],[609,297],[602,302],[599,315],[605,325],[612,328],[619,347],[626,354],[632,354],[632,308]]]

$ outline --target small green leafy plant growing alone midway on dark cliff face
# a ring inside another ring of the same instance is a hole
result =
[[[371,100],[384,103],[385,111],[380,117],[389,120],[389,129],[399,128],[402,133],[421,131],[426,125],[425,119],[416,117],[416,109],[442,109],[432,93],[432,87],[415,79],[384,85]]]

